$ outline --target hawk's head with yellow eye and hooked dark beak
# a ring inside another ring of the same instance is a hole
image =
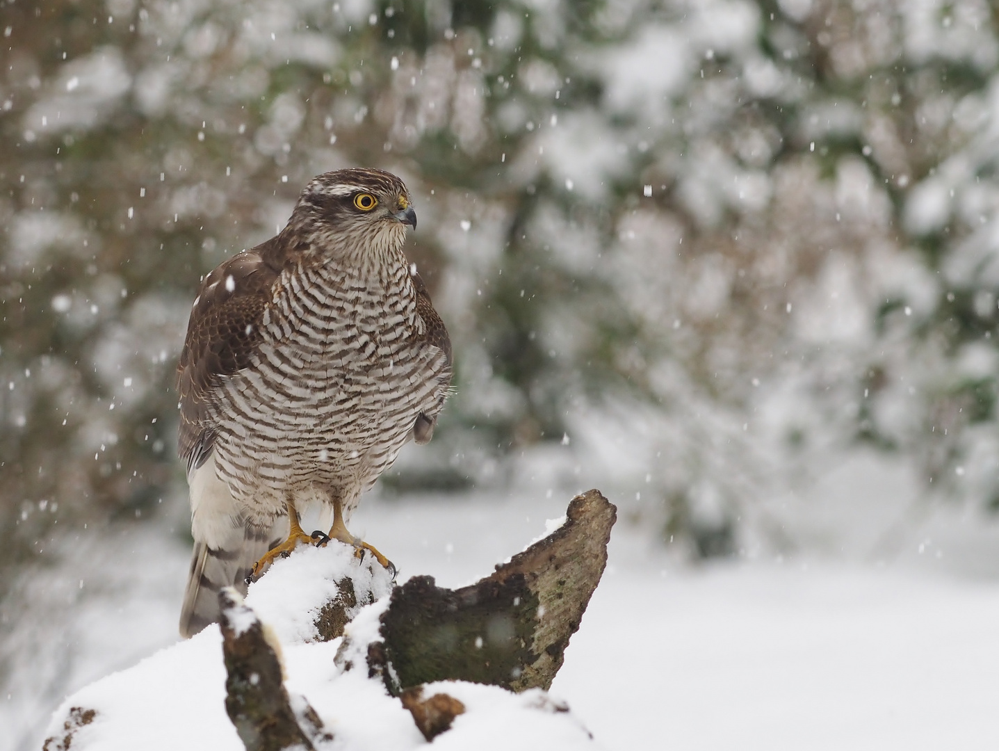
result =
[[[417,213],[403,181],[361,168],[313,178],[289,222],[322,255],[398,253],[407,226],[416,229]]]

